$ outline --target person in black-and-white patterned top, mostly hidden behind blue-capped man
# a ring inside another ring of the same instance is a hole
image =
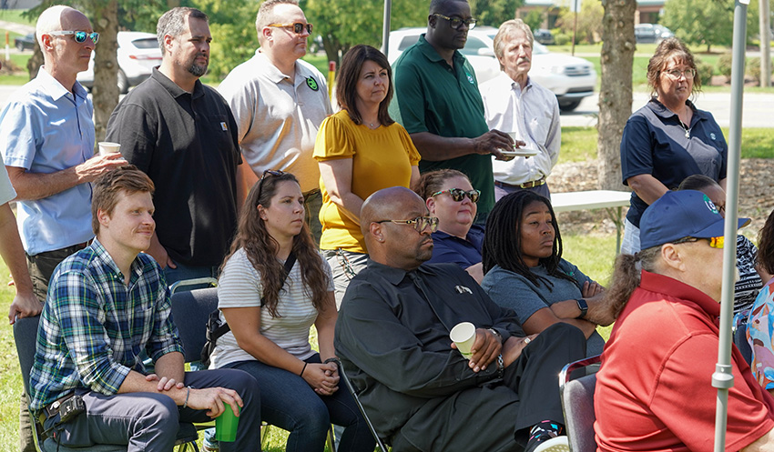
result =
[[[717,182],[704,175],[687,176],[678,190],[696,190],[709,198],[720,216],[726,217],[726,190]],[[758,248],[741,234],[737,235],[737,270],[738,279],[734,286],[734,314],[746,312],[758,296],[760,281],[758,264],[756,262]]]

